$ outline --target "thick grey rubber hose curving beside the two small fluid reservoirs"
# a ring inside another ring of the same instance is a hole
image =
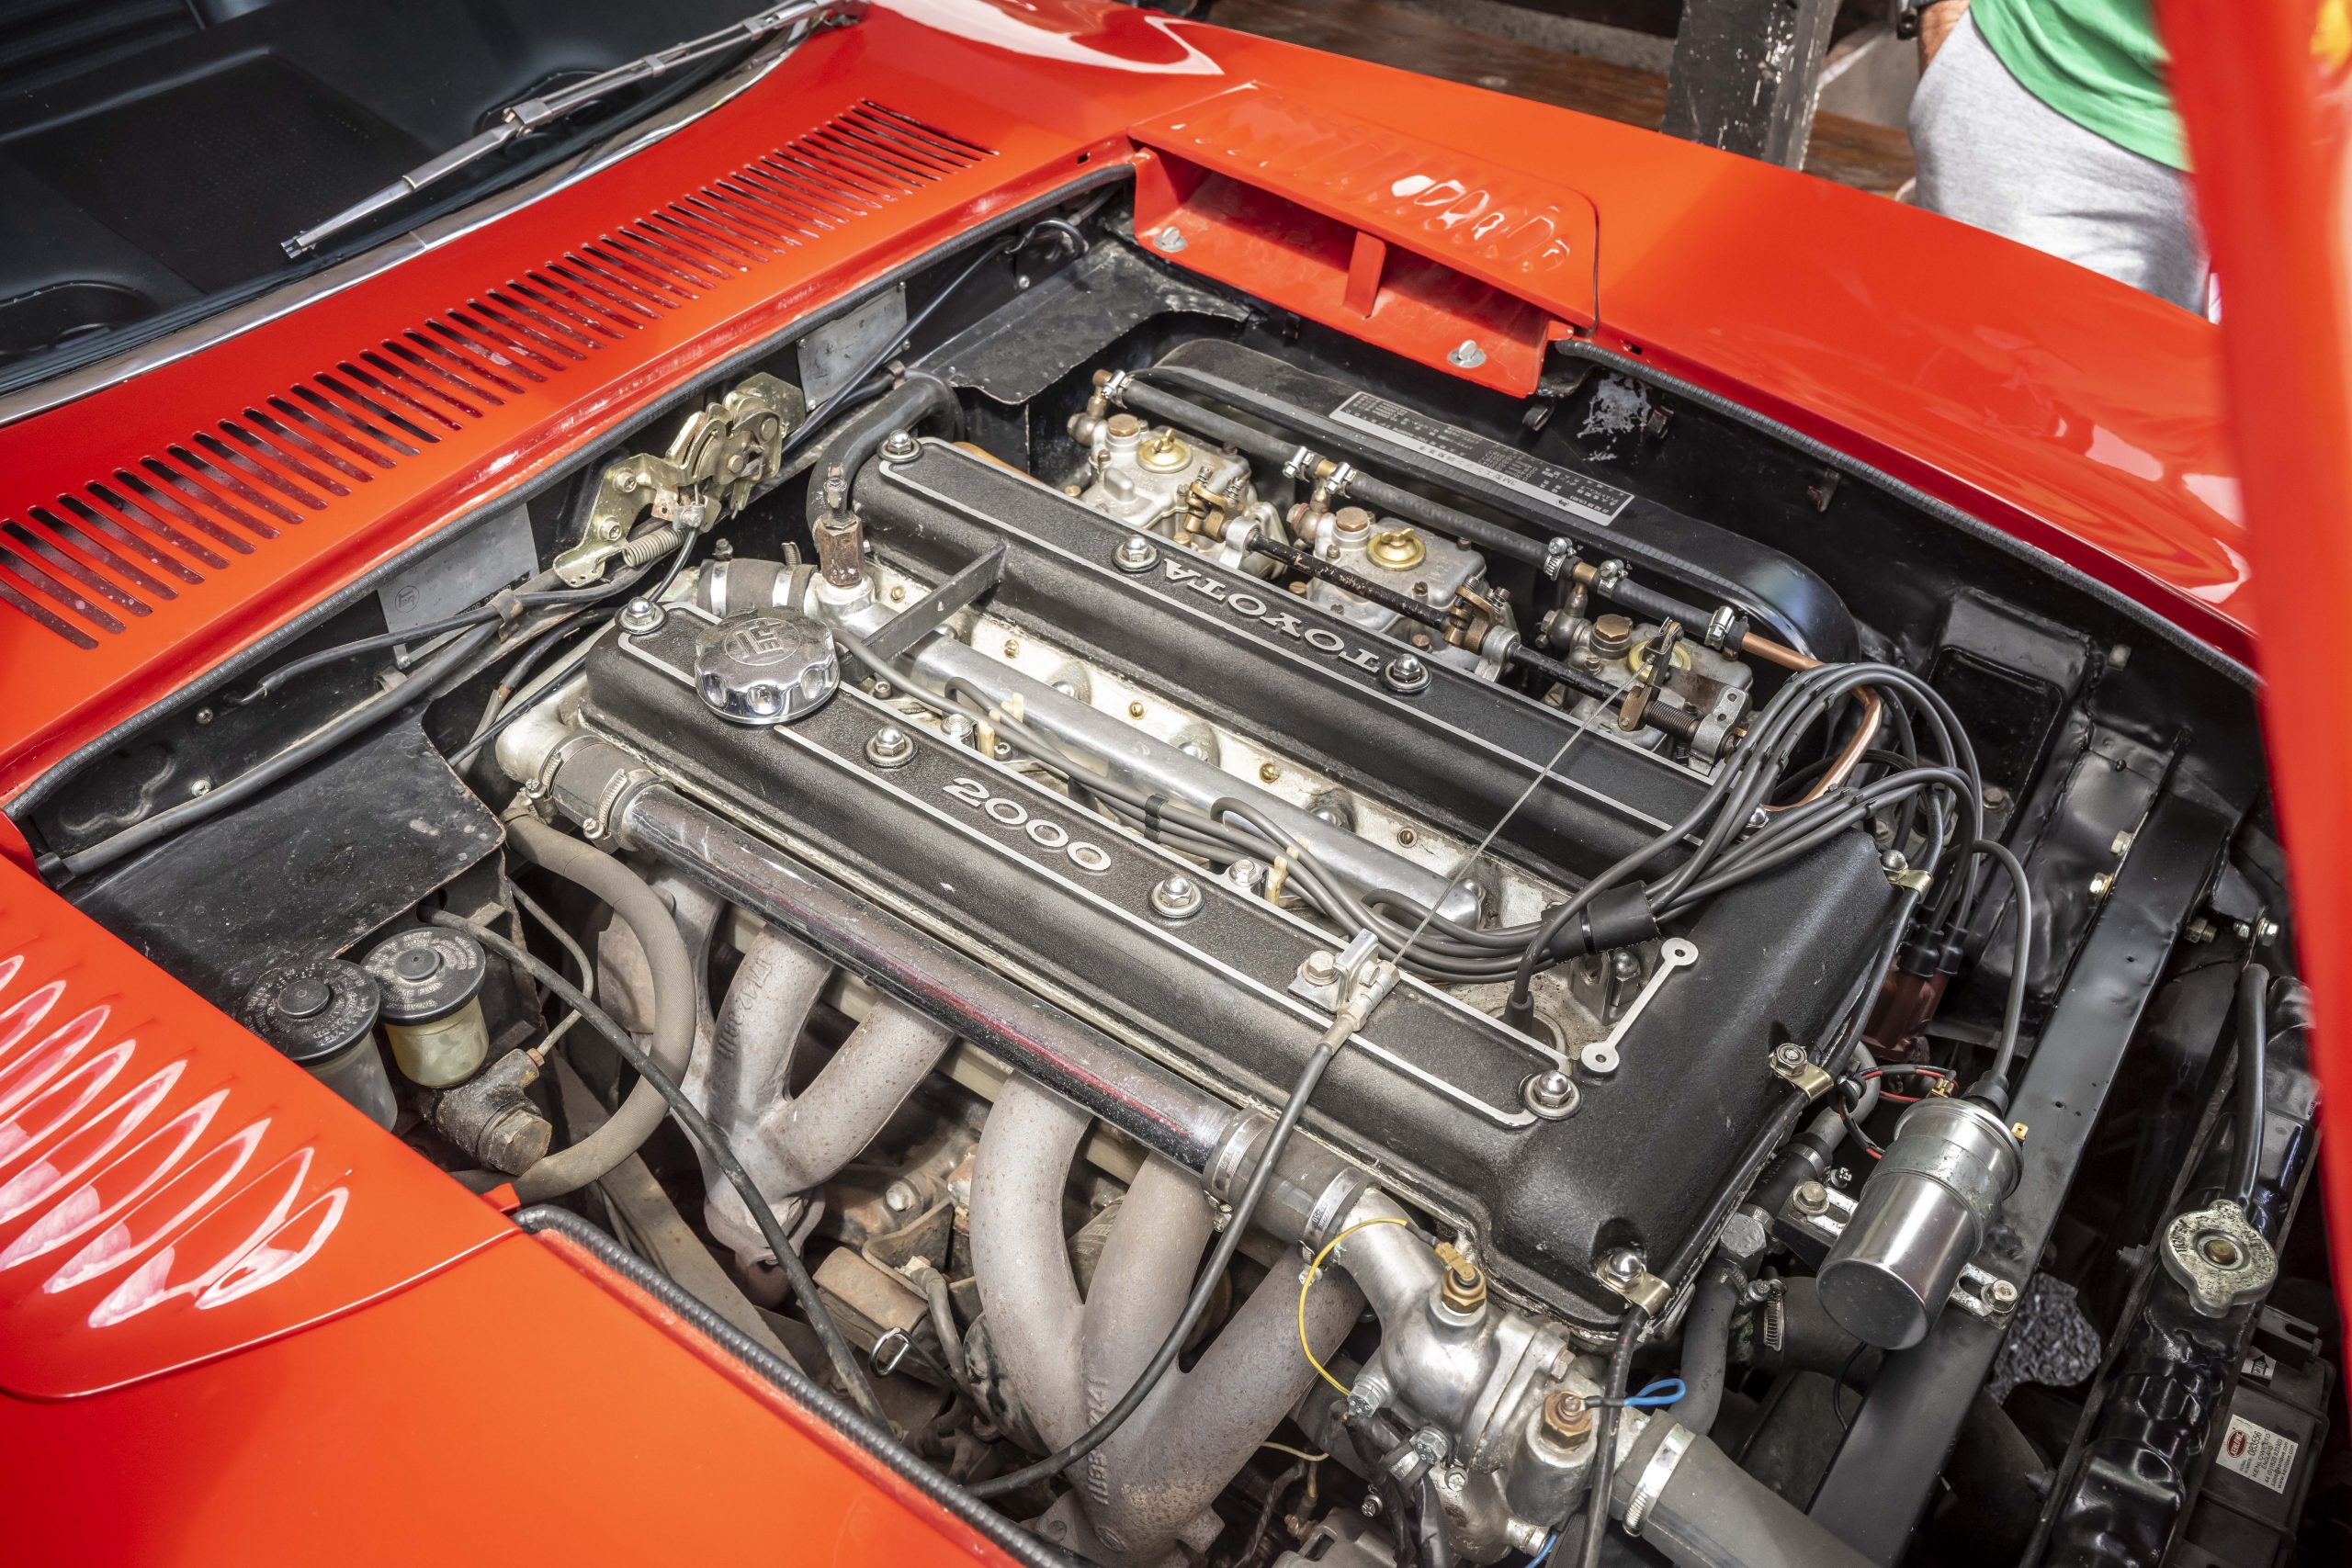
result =
[[[614,917],[644,947],[644,966],[654,983],[654,1037],[647,1044],[647,1056],[673,1079],[682,1079],[687,1074],[687,1058],[694,1053],[696,987],[694,959],[687,952],[687,938],[677,931],[670,905],[661,903],[661,896],[644,884],[644,877],[602,849],[555,832],[536,816],[510,818],[506,835],[506,842],[524,860],[586,889],[609,905]],[[628,1098],[621,1100],[621,1110],[604,1126],[517,1175],[515,1192],[524,1204],[579,1192],[635,1154],[668,1114],[670,1110],[661,1091],[637,1079]]]

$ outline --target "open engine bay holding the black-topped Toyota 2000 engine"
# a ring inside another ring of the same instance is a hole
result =
[[[1209,284],[1117,186],[16,820],[1049,1554],[2267,1563],[2300,1512],[2117,1495],[2249,1356],[2331,1375],[2246,672],[1597,343],[1508,400]]]

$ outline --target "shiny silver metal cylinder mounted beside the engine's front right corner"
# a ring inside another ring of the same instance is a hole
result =
[[[1820,1305],[1858,1340],[1917,1345],[2016,1185],[2018,1140],[1997,1114],[1973,1100],[1912,1105],[1820,1265]]]

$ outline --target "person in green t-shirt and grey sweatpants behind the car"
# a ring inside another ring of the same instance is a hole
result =
[[[1912,0],[1917,202],[2206,313],[2150,0]]]

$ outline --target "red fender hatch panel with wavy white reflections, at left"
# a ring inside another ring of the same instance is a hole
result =
[[[0,1392],[122,1387],[510,1234],[435,1166],[0,865]]]

